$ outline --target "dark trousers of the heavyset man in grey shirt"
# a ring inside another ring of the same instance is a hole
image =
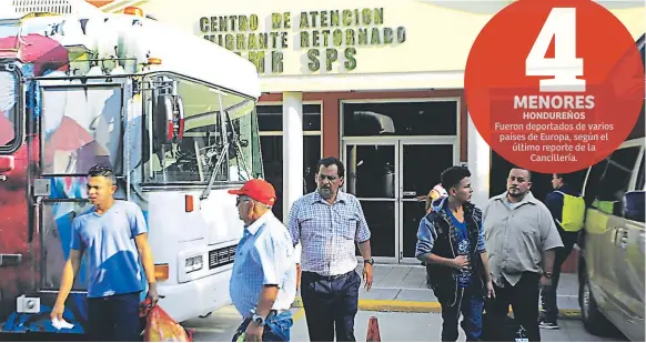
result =
[[[511,304],[514,319],[518,325],[525,327],[529,342],[541,341],[541,330],[538,329],[539,282],[541,275],[538,273],[525,272],[514,286],[506,280],[504,285],[494,283],[496,297],[491,301],[487,307],[498,323],[504,323]],[[503,329],[501,326],[501,330]]]

